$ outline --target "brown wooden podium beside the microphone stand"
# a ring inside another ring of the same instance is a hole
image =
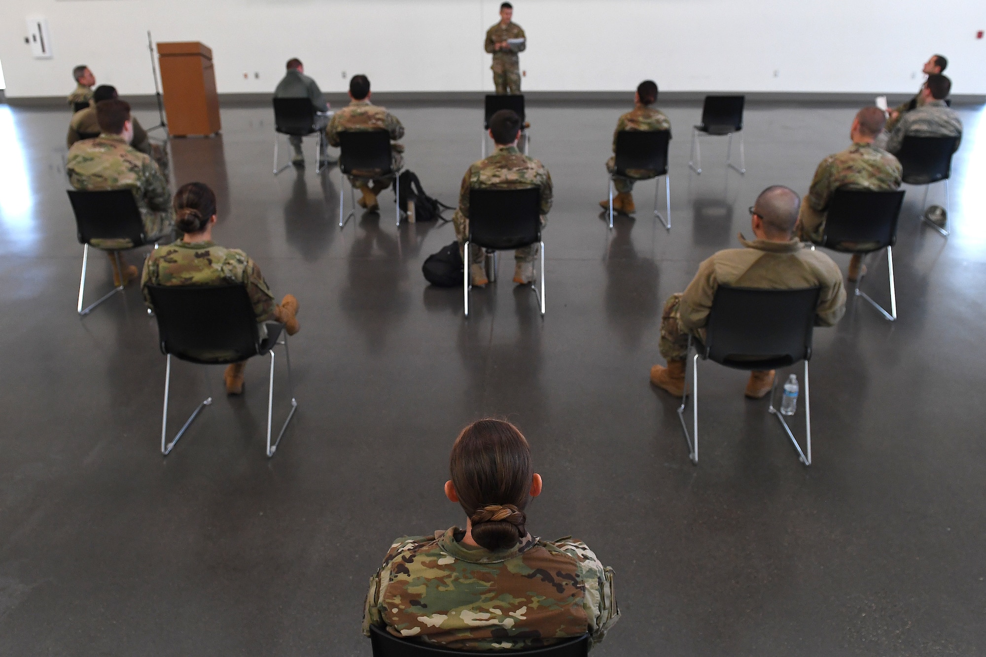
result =
[[[172,136],[211,136],[222,129],[212,49],[198,41],[158,43],[168,131]]]

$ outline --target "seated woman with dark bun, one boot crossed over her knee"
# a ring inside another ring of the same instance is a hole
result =
[[[260,267],[239,249],[226,249],[213,243],[216,223],[216,194],[205,183],[186,183],[175,194],[176,223],[184,237],[179,242],[155,250],[144,263],[141,288],[152,310],[148,285],[244,285],[257,330],[266,336],[264,322],[279,322],[289,335],[298,332],[298,300],[288,294],[279,305],[260,273]],[[222,360],[226,354],[199,354],[203,360]],[[226,368],[226,392],[244,392],[246,361]]]

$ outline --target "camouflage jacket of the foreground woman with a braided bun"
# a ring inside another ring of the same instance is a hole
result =
[[[459,543],[453,527],[397,539],[370,579],[363,633],[457,650],[532,648],[589,633],[593,643],[619,618],[613,571],[586,544],[529,534],[510,549]]]

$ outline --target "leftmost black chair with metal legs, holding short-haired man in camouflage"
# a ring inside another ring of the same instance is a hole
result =
[[[144,235],[144,221],[140,217],[137,199],[130,189],[106,189],[100,191],[81,191],[69,189],[68,198],[75,213],[76,235],[82,249],[82,278],[79,280],[79,303],[76,312],[81,316],[89,313],[116,292],[123,291],[120,285],[106,292],[96,303],[85,309],[82,307],[83,293],[86,290],[86,268],[89,263],[89,243],[93,240],[129,240],[136,249],[147,244]],[[157,247],[157,245],[155,245]],[[96,249],[96,247],[94,247]],[[128,250],[125,250],[128,251]],[[120,256],[112,252],[116,268],[123,275]]]

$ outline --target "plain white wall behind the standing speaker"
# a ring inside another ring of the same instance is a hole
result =
[[[983,0],[517,0],[529,91],[913,92],[934,52],[954,94],[986,94]],[[499,0],[0,0],[7,96],[62,96],[91,66],[122,94],[154,91],[147,31],[200,40],[220,93],[272,91],[292,56],[324,91],[491,90],[482,51]],[[47,17],[33,59],[25,17]],[[259,72],[254,79],[253,72]],[[775,71],[777,75],[775,76]],[[249,77],[244,79],[243,73]]]

